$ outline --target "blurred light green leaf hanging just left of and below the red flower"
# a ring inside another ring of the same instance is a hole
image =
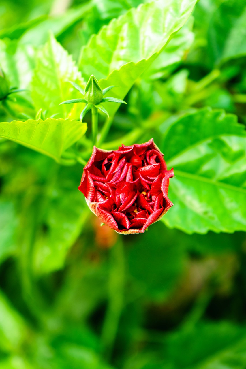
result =
[[[56,172],[56,170],[54,170]],[[78,191],[82,167],[58,168],[49,187],[46,204],[35,234],[33,268],[36,274],[48,273],[63,267],[66,254],[76,241],[89,210]],[[35,204],[34,204],[35,206]]]

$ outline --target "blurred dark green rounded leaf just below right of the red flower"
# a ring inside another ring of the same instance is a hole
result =
[[[131,278],[137,283],[137,294],[156,301],[167,299],[184,270],[186,260],[181,243],[175,242],[174,232],[159,222],[152,225],[141,239],[134,236],[129,241],[127,265]]]

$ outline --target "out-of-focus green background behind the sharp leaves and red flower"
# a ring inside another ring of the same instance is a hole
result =
[[[29,88],[51,32],[78,61],[92,34],[141,2],[1,0],[0,66],[11,87]],[[107,142],[154,137],[165,153],[165,124],[207,106],[245,124],[245,24],[245,1],[200,0],[127,93]],[[0,105],[0,120],[34,110],[19,93]],[[232,165],[233,155],[240,150]],[[172,228],[167,217],[143,235],[118,235],[76,189],[83,166],[64,164],[0,141],[0,369],[246,368],[245,233],[192,234],[191,223]]]

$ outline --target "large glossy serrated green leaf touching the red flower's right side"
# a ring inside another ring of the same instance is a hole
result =
[[[207,108],[161,129],[175,174],[164,223],[188,233],[246,231],[246,133],[236,116]]]

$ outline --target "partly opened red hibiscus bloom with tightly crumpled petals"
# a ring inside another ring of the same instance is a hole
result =
[[[167,197],[173,176],[153,138],[115,151],[94,146],[79,190],[104,224],[122,234],[143,233],[173,205]]]

